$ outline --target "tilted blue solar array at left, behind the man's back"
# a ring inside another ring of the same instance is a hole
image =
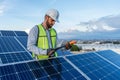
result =
[[[17,32],[19,35],[17,35]],[[27,36],[20,36],[22,31],[1,31],[0,37],[0,65],[32,60],[27,48]]]

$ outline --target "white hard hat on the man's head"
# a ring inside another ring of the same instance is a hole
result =
[[[50,16],[55,21],[59,22],[59,12],[56,9],[50,9],[46,12],[46,15]]]

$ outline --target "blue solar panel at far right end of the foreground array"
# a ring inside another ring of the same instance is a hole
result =
[[[108,59],[115,65],[120,67],[120,55],[116,54],[112,50],[104,50],[97,52],[99,55],[103,56],[105,59]]]

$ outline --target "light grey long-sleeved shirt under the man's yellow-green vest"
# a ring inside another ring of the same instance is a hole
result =
[[[49,42],[49,47],[51,48],[51,39],[50,39],[50,34],[49,34],[49,30],[46,30],[47,33],[47,37],[48,37],[48,42]],[[47,50],[43,50],[41,48],[38,48],[37,45],[37,39],[38,39],[38,27],[37,25],[34,26],[28,35],[28,42],[27,42],[27,49],[35,54],[47,54]],[[62,42],[58,44],[58,40],[57,40],[57,47],[61,46]]]

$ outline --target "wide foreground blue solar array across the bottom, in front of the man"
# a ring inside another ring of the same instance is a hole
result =
[[[109,50],[103,52],[106,54]],[[113,53],[111,51],[109,56]],[[119,66],[100,54],[102,51],[2,65],[0,79],[119,80]]]

